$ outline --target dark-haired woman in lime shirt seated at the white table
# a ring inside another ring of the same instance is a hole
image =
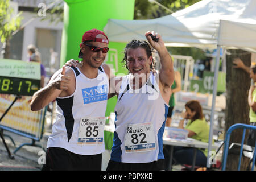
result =
[[[185,112],[181,114],[181,119],[179,123],[180,129],[185,129],[188,131],[188,137],[201,142],[207,142],[209,140],[210,127],[204,119],[203,110],[199,101],[191,100],[185,104]],[[188,119],[187,125],[184,127],[184,120]],[[168,158],[170,154],[170,146],[164,146],[165,158]],[[196,149],[196,166],[206,166],[207,164],[207,149]],[[191,147],[174,147],[174,162],[179,164],[192,165],[194,148]],[[168,167],[169,160],[166,161],[166,168]]]

